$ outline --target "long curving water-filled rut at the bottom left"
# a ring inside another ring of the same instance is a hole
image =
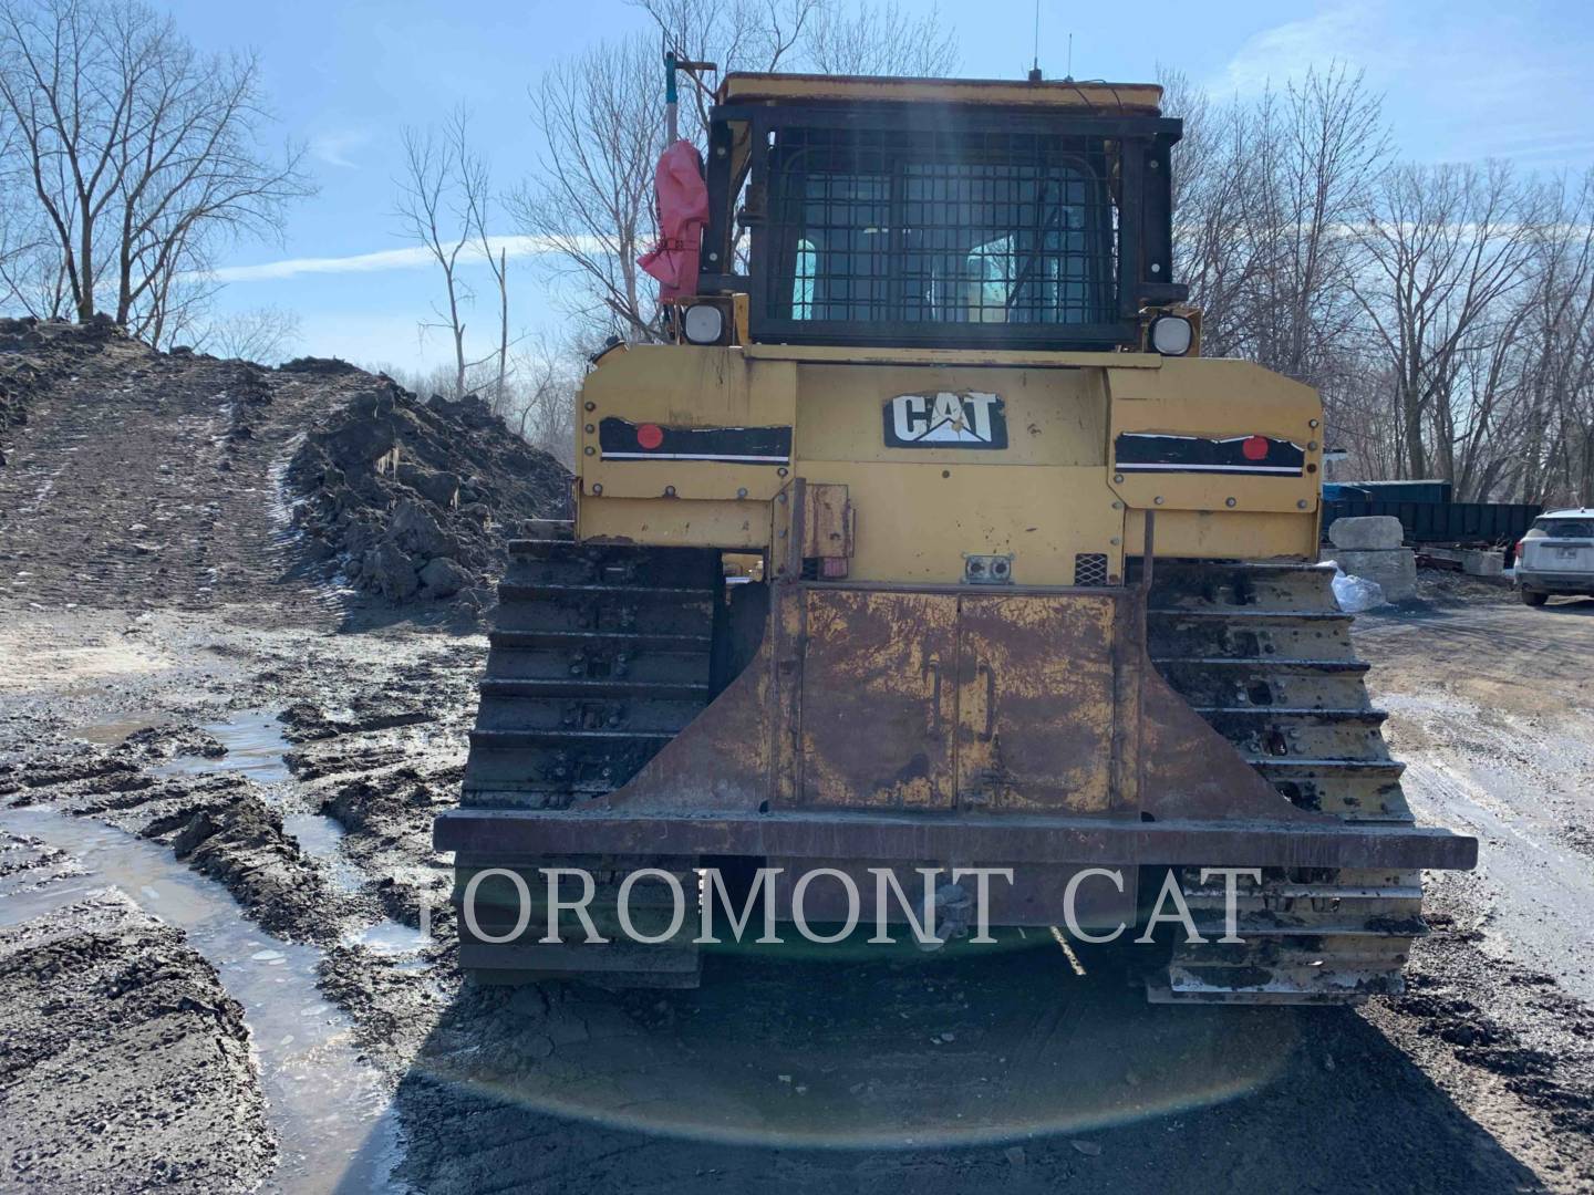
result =
[[[0,832],[30,835],[84,868],[0,900],[0,924],[48,915],[113,884],[186,932],[244,1005],[281,1162],[268,1184],[293,1195],[398,1190],[397,1117],[378,1072],[357,1056],[352,1026],[316,988],[322,953],[250,926],[233,899],[164,848],[43,806],[0,809]]]

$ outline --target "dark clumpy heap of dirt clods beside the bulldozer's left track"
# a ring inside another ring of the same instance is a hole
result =
[[[287,483],[306,548],[349,585],[475,610],[489,602],[488,580],[518,524],[564,518],[569,503],[566,470],[485,402],[422,402],[387,379],[317,421]]]

